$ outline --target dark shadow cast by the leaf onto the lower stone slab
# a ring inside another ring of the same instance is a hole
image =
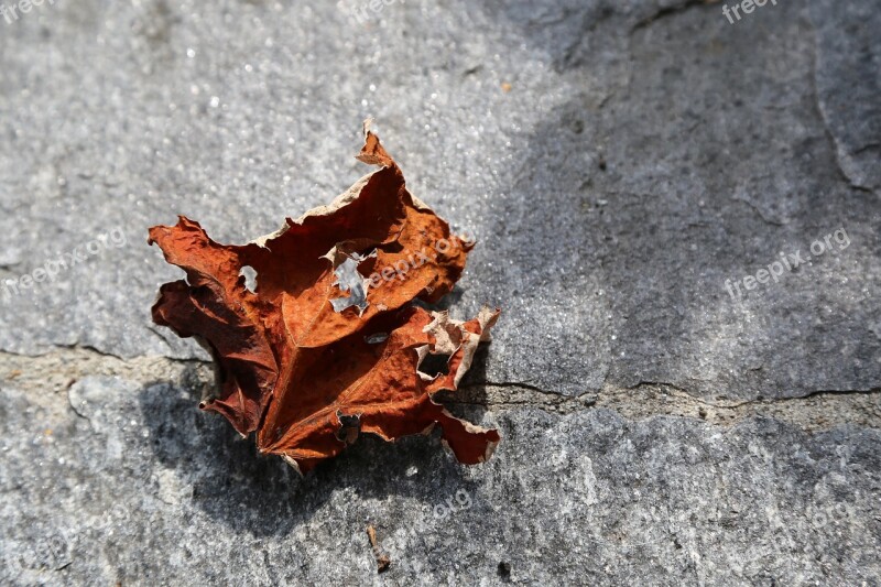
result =
[[[465,467],[439,441],[439,431],[385,443],[361,435],[341,455],[300,475],[279,457],[261,456],[226,420],[197,409],[197,377],[155,381],[139,395],[155,458],[192,483],[189,499],[213,519],[254,535],[284,535],[308,521],[337,491],[354,491],[352,507],[401,496],[426,508],[458,489],[476,491]],[[440,496],[440,497],[438,497]]]

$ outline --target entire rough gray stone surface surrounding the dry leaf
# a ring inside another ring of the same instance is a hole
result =
[[[0,285],[0,583],[881,581],[872,0],[361,6],[0,17],[0,280],[86,258]],[[274,230],[367,171],[368,116],[480,240],[446,304],[504,314],[454,407],[504,438],[300,479],[195,410],[146,228]]]

